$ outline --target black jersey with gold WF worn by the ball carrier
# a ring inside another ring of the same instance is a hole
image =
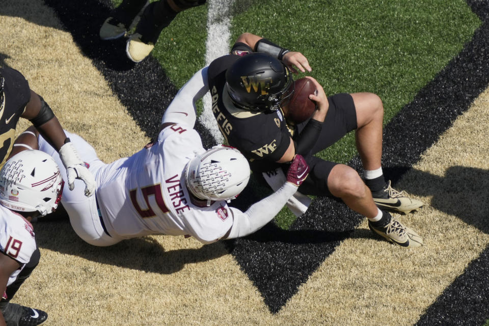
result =
[[[226,91],[226,70],[239,58],[227,55],[209,65],[212,113],[228,144],[248,158],[252,170],[267,171],[285,154],[290,145],[290,133],[280,110],[253,113],[233,105]]]

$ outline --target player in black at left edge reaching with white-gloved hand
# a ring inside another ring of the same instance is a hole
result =
[[[0,118],[0,167],[12,150],[17,122],[20,118],[29,119],[63,157],[63,164],[68,170],[69,188],[74,188],[75,179],[81,179],[85,183],[85,195],[94,194],[95,178],[66,137],[58,118],[15,69],[0,67]]]

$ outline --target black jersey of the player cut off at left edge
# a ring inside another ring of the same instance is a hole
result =
[[[11,68],[0,68],[4,82],[4,103],[0,103],[0,167],[12,150],[15,128],[25,105],[31,99],[29,83],[20,72]]]

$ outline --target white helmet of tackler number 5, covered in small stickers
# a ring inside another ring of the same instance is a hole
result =
[[[236,198],[250,179],[248,160],[237,149],[214,146],[192,158],[185,167],[185,183],[199,199],[229,201]]]

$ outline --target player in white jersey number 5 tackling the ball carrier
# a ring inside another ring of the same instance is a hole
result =
[[[203,79],[188,83],[205,93],[208,86]],[[82,187],[73,191],[65,187],[61,201],[74,231],[88,243],[110,246],[148,234],[190,235],[203,243],[246,236],[273,219],[307,177],[309,167],[297,155],[278,191],[245,212],[229,207],[227,201],[248,183],[248,161],[230,147],[206,151],[193,129],[193,99],[179,98],[167,108],[157,141],[111,164],[104,164],[92,146],[67,132],[80,155],[88,159],[97,182],[94,197],[83,196]],[[60,162],[56,150],[33,128],[19,136],[14,152],[37,145]]]

